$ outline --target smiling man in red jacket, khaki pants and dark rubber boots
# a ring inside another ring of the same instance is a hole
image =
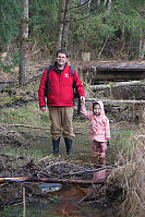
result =
[[[45,88],[47,88],[47,106],[49,109],[49,117],[51,120],[51,137],[53,153],[59,152],[59,143],[62,136],[64,137],[67,153],[72,150],[72,138],[75,137],[73,133],[73,83],[77,87],[81,100],[85,100],[84,86],[78,77],[77,72],[74,70],[72,74],[70,65],[67,63],[68,53],[65,50],[60,49],[57,51],[57,61],[51,67],[49,72],[49,82],[47,79],[47,71],[44,71],[41,76],[38,97],[39,107],[41,111],[46,111],[45,103]]]

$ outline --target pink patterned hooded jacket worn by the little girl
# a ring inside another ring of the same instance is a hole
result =
[[[107,142],[110,138],[109,120],[105,116],[102,101],[97,101],[100,105],[100,116],[96,116],[93,112],[86,110],[85,106],[82,106],[82,113],[89,119],[89,137],[97,142]]]

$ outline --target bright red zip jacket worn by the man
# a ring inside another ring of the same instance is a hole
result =
[[[69,64],[67,63],[61,74],[53,65],[49,72],[49,88],[47,93],[47,105],[48,106],[73,106],[73,80],[76,83],[76,87],[80,96],[84,96],[84,86],[78,77],[77,72],[74,70],[74,75],[70,70]],[[39,97],[39,106],[46,106],[45,101],[45,82],[47,81],[47,69],[44,71],[38,97]]]

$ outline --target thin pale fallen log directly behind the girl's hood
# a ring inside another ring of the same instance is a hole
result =
[[[145,100],[111,100],[97,98],[86,98],[86,101],[102,101],[105,104],[145,104]]]

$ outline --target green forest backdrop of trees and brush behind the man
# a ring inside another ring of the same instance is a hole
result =
[[[27,81],[28,59],[67,48],[71,60],[144,60],[143,0],[1,0],[0,69]],[[24,80],[24,81],[23,81]]]

